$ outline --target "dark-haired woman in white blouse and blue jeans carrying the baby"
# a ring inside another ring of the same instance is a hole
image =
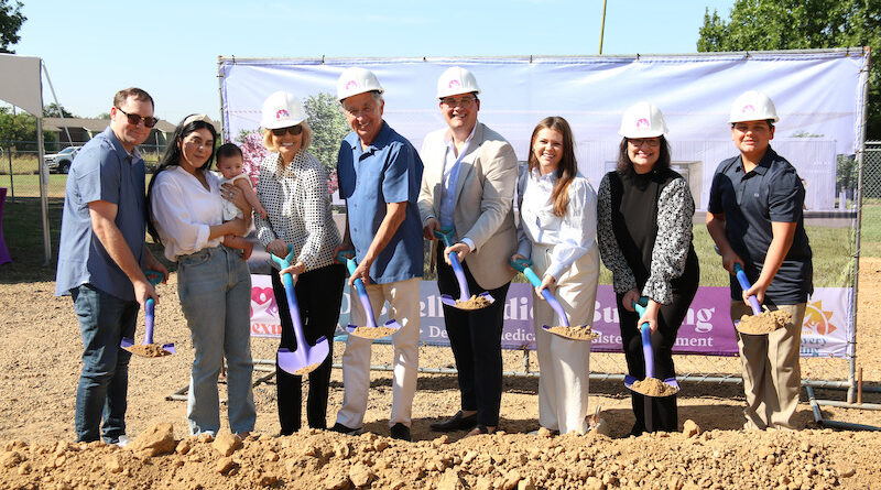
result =
[[[195,359],[187,395],[189,433],[217,435],[220,401],[217,377],[227,359],[227,409],[232,433],[246,437],[257,412],[251,390],[251,274],[225,235],[244,236],[251,207],[241,190],[219,185],[208,167],[217,133],[205,115],[184,119],[150,179],[151,235],[177,262],[177,294],[193,338]],[[243,218],[224,222],[222,198]]]

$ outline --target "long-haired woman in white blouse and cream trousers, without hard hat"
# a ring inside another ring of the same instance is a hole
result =
[[[552,433],[587,432],[590,342],[548,334],[542,325],[563,325],[542,298],[556,295],[570,325],[591,325],[597,297],[597,194],[578,173],[572,129],[548,117],[532,132],[529,165],[518,181],[518,252],[542,277],[533,297],[539,353],[539,423]]]

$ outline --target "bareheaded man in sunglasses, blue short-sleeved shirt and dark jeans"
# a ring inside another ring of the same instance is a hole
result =
[[[78,442],[124,445],[131,353],[138,311],[156,292],[142,268],[168,272],[144,244],[144,161],[137,146],[155,126],[153,99],[117,92],[110,127],[77,153],[67,175],[55,294],[72,295],[83,336],[76,392]],[[101,424],[104,421],[104,424]]]

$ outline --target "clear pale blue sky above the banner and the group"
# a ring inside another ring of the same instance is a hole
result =
[[[602,15],[601,0],[22,2],[28,21],[12,48],[43,58],[69,111],[97,116],[118,89],[139,86],[172,122],[191,112],[219,117],[218,55],[590,55]],[[602,53],[693,53],[705,9],[727,18],[732,4],[609,0]]]

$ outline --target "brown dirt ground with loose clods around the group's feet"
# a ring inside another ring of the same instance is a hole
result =
[[[279,426],[270,378],[254,388],[257,428],[241,447],[226,431],[216,442],[193,439],[186,434],[186,403],[166,399],[186,386],[193,361],[174,275],[159,288],[155,340],[174,342],[177,353],[131,361],[127,421],[134,449],[76,444],[74,393],[81,344],[69,297],[54,297],[53,290],[50,282],[0,286],[0,489],[805,489],[873,488],[881,479],[881,438],[871,432],[818,427],[804,390],[801,431],[747,433],[740,429],[740,384],[694,381],[683,382],[679,393],[683,433],[628,437],[633,417],[627,390],[620,381],[595,380],[590,405],[601,407],[609,435],[545,437],[526,434],[539,427],[537,379],[508,377],[503,433],[459,440],[461,433],[446,437],[428,431],[431,422],[459,406],[455,375],[421,374],[413,406],[414,443],[402,443],[387,437],[390,372],[372,373],[368,433],[358,437],[311,429],[274,437]],[[857,363],[873,385],[881,384],[879,292],[881,259],[861,260]],[[335,347],[338,361],[342,345]],[[275,348],[273,339],[252,341],[254,359],[273,359]],[[390,360],[389,347],[374,347],[374,364]],[[597,357],[591,364],[601,361]],[[422,366],[444,368],[452,362],[448,349],[421,349]],[[689,362],[694,360],[679,362],[679,372],[689,369]],[[722,364],[737,366],[733,359]],[[264,367],[271,368],[259,369]],[[522,370],[522,353],[507,352],[505,369]],[[812,369],[805,367],[808,373]],[[267,374],[257,371],[254,379]],[[222,391],[221,384],[221,398]],[[835,390],[818,390],[817,395],[845,400],[845,393]],[[341,400],[341,373],[335,369],[328,425]],[[881,395],[867,393],[864,401],[881,403]],[[824,406],[823,415],[881,426],[881,411]]]

